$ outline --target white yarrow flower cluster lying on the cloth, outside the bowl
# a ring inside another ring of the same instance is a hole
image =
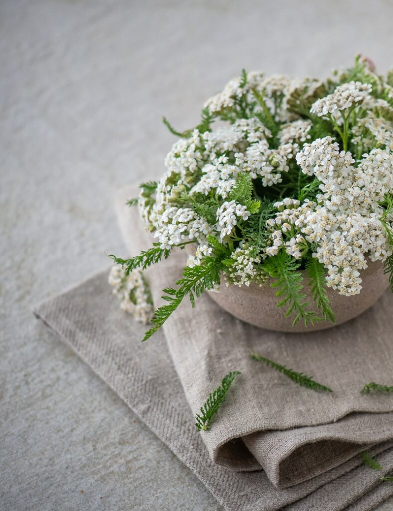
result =
[[[120,300],[120,309],[131,314],[140,323],[146,324],[153,317],[153,301],[148,283],[140,270],[126,275],[120,266],[112,266],[108,283],[113,287],[113,294]]]

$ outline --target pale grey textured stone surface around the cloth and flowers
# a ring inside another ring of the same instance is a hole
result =
[[[2,511],[222,509],[32,309],[125,254],[114,191],[162,172],[162,114],[195,125],[242,67],[323,76],[360,52],[385,72],[392,19],[390,0],[0,1]]]

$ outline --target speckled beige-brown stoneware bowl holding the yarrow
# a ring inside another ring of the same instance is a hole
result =
[[[251,284],[250,287],[229,286],[223,284],[218,293],[209,292],[212,300],[233,316],[251,323],[256,327],[278,332],[316,332],[345,323],[369,309],[388,287],[388,277],[383,274],[382,263],[372,263],[360,272],[362,290],[355,296],[342,296],[333,289],[327,289],[331,308],[336,322],[327,321],[305,328],[302,321],[292,327],[293,318],[284,317],[284,308],[277,308],[280,298],[276,296],[276,289],[267,282],[259,287]],[[304,282],[307,283],[305,276]],[[305,285],[305,288],[307,286]],[[307,294],[307,290],[304,292]],[[312,301],[309,297],[309,301]]]

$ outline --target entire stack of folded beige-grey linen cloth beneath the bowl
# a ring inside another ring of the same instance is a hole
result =
[[[118,205],[122,230],[135,254],[143,248],[144,235],[135,211],[122,207],[124,198],[132,195],[130,190],[122,191]],[[181,252],[165,262],[165,272],[162,268],[150,271],[156,298],[168,279],[173,282],[177,278],[184,259]],[[353,511],[366,511],[393,493],[392,484],[378,484],[379,477],[393,469],[393,442],[389,442],[393,438],[393,414],[389,413],[393,401],[389,396],[359,394],[366,381],[382,382],[392,374],[388,345],[392,325],[391,319],[386,320],[392,303],[389,295],[350,325],[312,338],[249,327],[203,296],[193,313],[184,305],[165,326],[175,369],[162,333],[138,343],[143,328],[118,310],[106,280],[106,274],[97,276],[45,304],[37,314],[227,509],[273,511],[286,506],[288,511],[338,511],[350,506]],[[372,334],[370,339],[364,331]],[[366,341],[373,349],[367,349]],[[306,373],[311,371],[335,393],[325,396],[286,381],[250,360],[250,349]],[[335,372],[332,362],[338,365]],[[231,369],[243,374],[211,431],[201,435],[193,426],[192,413]],[[365,447],[377,455],[383,471],[360,463],[356,454]],[[264,471],[233,471],[262,467]]]

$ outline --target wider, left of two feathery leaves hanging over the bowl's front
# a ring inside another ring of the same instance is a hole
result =
[[[264,260],[263,269],[273,278],[272,287],[278,288],[276,296],[282,298],[277,307],[288,306],[285,317],[295,314],[292,322],[294,326],[303,319],[305,326],[321,321],[316,312],[310,311],[310,304],[306,301],[303,290],[303,277],[298,271],[300,264],[284,250],[280,250],[274,257]]]

